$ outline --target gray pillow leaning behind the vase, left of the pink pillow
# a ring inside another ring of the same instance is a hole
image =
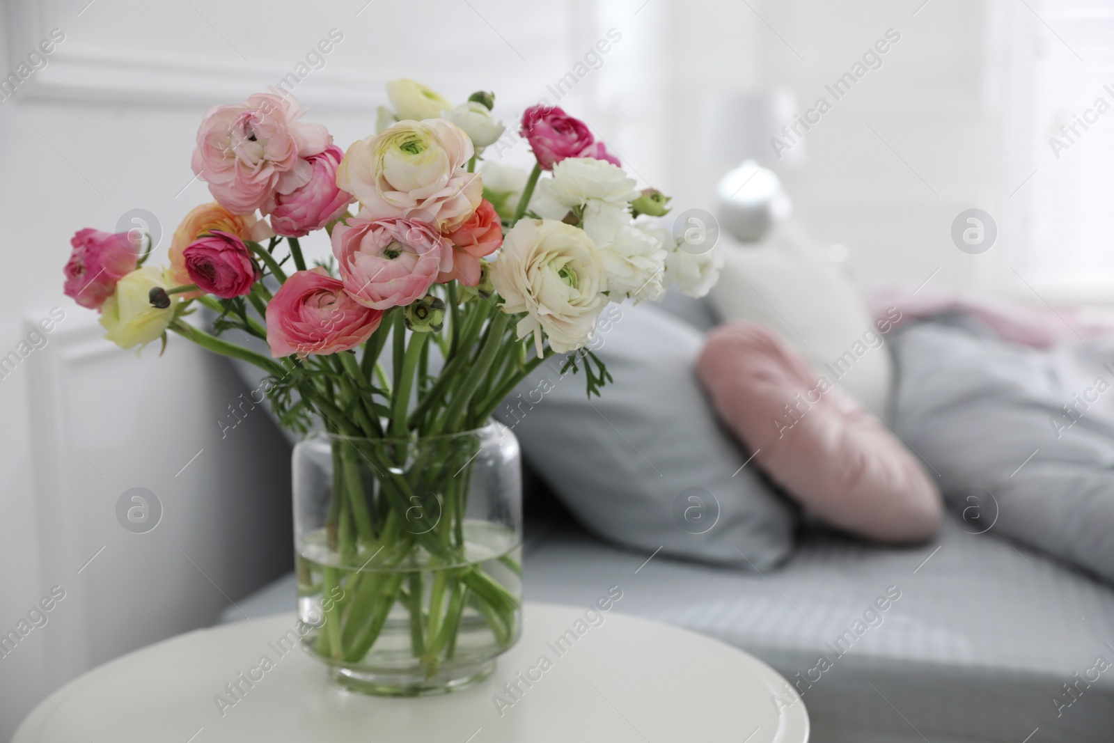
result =
[[[794,511],[723,431],[693,372],[695,327],[610,305],[593,343],[614,383],[551,359],[499,407],[524,453],[588,529],[644,551],[765,569],[793,546]],[[615,315],[620,315],[614,319]]]

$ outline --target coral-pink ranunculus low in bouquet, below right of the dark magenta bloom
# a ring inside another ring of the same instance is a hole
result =
[[[324,268],[299,271],[267,304],[267,344],[275,359],[329,354],[360,345],[383,313],[356,303]]]

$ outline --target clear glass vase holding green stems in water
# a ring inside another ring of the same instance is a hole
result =
[[[508,428],[294,448],[299,634],[382,695],[486,678],[520,633],[521,469]]]

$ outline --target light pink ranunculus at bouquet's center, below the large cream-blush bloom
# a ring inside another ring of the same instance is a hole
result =
[[[375,310],[426,296],[438,275],[452,271],[452,245],[417,219],[354,217],[333,228],[333,255],[344,290]]]

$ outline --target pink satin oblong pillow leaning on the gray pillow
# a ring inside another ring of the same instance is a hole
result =
[[[936,532],[940,493],[920,463],[770,329],[721,325],[697,374],[754,462],[817,516],[889,544]]]

